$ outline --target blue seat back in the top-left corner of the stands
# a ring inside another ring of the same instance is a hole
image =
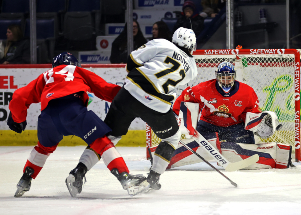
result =
[[[29,0],[3,0],[1,13],[29,13]]]

